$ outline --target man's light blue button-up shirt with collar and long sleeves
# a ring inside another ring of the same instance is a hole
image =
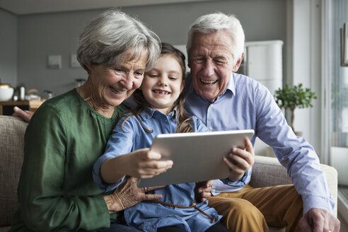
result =
[[[306,139],[296,137],[265,86],[248,76],[233,73],[224,93],[210,103],[195,92],[189,75],[185,91],[187,111],[202,120],[211,131],[254,129],[255,134],[250,139],[253,144],[259,137],[272,146],[302,196],[305,214],[313,207],[332,214],[335,202],[320,170],[317,154]],[[250,176],[251,168],[235,182],[214,180],[212,193],[238,191],[250,182]]]

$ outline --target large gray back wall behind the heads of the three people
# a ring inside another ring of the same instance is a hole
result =
[[[136,16],[173,45],[186,43],[187,29],[198,16],[221,11],[240,19],[247,41],[283,40],[286,46],[286,1],[202,1],[124,7],[122,11]],[[86,79],[83,69],[70,67],[70,55],[76,52],[82,26],[101,12],[18,16],[18,84],[59,94],[74,88],[75,79]],[[62,55],[62,69],[47,69],[49,54]]]

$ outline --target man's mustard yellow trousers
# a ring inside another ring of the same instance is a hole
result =
[[[246,185],[237,192],[223,192],[208,200],[209,207],[224,216],[221,223],[231,231],[261,232],[268,231],[268,226],[301,231],[298,221],[303,216],[303,202],[294,185]]]

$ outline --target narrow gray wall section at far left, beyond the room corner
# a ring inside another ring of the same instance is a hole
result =
[[[17,85],[17,16],[0,8],[0,79]]]

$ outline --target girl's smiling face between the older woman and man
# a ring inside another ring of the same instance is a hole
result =
[[[166,115],[170,112],[185,86],[182,75],[178,60],[171,54],[161,55],[156,66],[145,74],[141,91],[153,110]]]

